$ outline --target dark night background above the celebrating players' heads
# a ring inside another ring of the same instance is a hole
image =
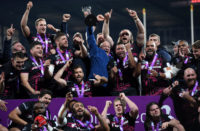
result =
[[[20,21],[26,9],[27,0],[0,0],[0,47],[5,37],[6,28],[11,23],[16,28],[15,39],[22,43],[27,42],[20,30]],[[142,8],[146,8],[147,36],[157,33],[161,36],[164,45],[170,45],[171,41],[185,39],[191,41],[190,32],[190,2],[189,0],[33,0],[28,26],[36,33],[34,22],[39,17],[44,17],[47,23],[60,27],[63,13],[70,13],[71,20],[68,22],[70,36],[79,31],[84,33],[84,17],[81,7],[90,5],[92,13],[104,14],[113,9],[110,21],[110,34],[116,42],[120,30],[130,29],[134,37],[137,29],[132,18],[125,8],[137,11],[139,18],[143,21]],[[194,40],[199,39],[200,34],[200,8],[194,5]],[[100,32],[102,23],[97,26],[96,33]]]

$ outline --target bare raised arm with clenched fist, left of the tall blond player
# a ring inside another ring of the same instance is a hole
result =
[[[24,12],[24,15],[21,19],[21,30],[25,37],[30,36],[30,29],[27,25],[27,22],[28,22],[28,16],[29,16],[29,13],[30,13],[30,10],[32,7],[33,7],[33,3],[31,1],[29,1],[26,6],[26,11]]]

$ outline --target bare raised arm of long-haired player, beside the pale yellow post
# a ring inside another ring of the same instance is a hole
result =
[[[128,8],[126,8],[126,10],[128,11],[129,15],[133,18],[136,24],[136,27],[138,29],[137,37],[136,37],[137,45],[139,47],[142,47],[144,45],[144,25],[142,24],[139,17],[137,16],[136,11],[128,9]]]

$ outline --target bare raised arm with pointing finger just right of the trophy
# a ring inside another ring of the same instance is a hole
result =
[[[113,39],[110,36],[110,30],[109,30],[111,15],[112,15],[112,9],[110,10],[110,12],[105,13],[104,23],[102,27],[102,33],[103,33],[104,39],[110,43],[110,47],[114,45]]]

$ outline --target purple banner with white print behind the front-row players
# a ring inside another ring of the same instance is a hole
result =
[[[137,106],[139,107],[139,115],[136,119],[136,131],[143,131],[144,130],[144,121],[145,121],[145,115],[146,115],[146,105],[149,102],[159,101],[159,96],[129,96],[129,98],[134,101]],[[75,98],[78,101],[81,101],[84,103],[85,107],[87,105],[96,106],[101,113],[103,111],[103,108],[105,106],[106,100],[114,100],[115,97],[92,97],[92,98]],[[32,101],[33,99],[26,99],[26,100],[6,100],[8,102],[7,104],[7,112],[0,111],[0,123],[4,126],[8,126],[11,122],[8,118],[8,114],[10,111],[12,111],[15,107],[17,107],[19,104],[25,101]],[[54,98],[52,99],[52,102],[49,105],[49,109],[51,111],[52,119],[57,120],[57,114],[61,107],[61,105],[64,103],[65,98]],[[127,111],[129,110],[127,105]],[[162,106],[162,110],[164,113],[172,115],[175,117],[174,109],[173,109],[173,103],[170,98],[166,99]],[[114,113],[113,106],[110,107],[108,110],[108,113]],[[97,123],[97,119],[94,116],[91,116],[91,122]]]

